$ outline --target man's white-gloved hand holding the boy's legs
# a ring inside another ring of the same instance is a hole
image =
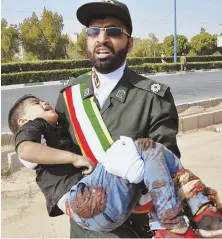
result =
[[[102,160],[105,169],[116,176],[139,183],[143,179],[144,162],[134,141],[121,136],[107,151]]]

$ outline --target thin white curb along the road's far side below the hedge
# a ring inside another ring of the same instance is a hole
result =
[[[209,69],[209,70],[190,70],[190,71],[172,71],[172,72],[158,72],[158,73],[145,73],[145,74],[140,74],[142,76],[166,76],[166,75],[183,75],[186,73],[197,73],[197,72],[218,72],[222,71],[222,68],[218,69]],[[17,84],[17,85],[6,85],[2,86],[1,90],[11,90],[11,89],[18,89],[18,88],[24,88],[24,87],[33,87],[33,86],[46,86],[46,85],[61,85],[65,82],[66,80],[60,80],[60,81],[47,81],[47,82],[35,82],[35,83],[26,83],[26,84]]]

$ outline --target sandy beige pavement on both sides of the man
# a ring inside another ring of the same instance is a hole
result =
[[[216,127],[222,125],[180,133],[178,145],[184,166],[217,189],[222,199],[222,133],[215,132]],[[2,179],[2,237],[68,237],[68,217],[47,216],[34,175],[22,168]]]

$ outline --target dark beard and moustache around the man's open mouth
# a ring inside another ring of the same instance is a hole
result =
[[[93,53],[87,51],[88,57],[93,67],[95,67],[95,69],[102,74],[108,74],[118,69],[125,61],[129,49],[129,41],[126,47],[119,50],[117,53],[115,53],[115,50],[106,43],[99,44],[96,47],[106,47],[113,53],[113,56],[111,58],[101,61],[95,57],[96,48],[94,48]]]

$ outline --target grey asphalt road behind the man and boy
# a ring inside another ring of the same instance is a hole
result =
[[[222,97],[222,72],[187,73],[182,75],[149,76],[171,87],[176,104]],[[8,132],[7,117],[9,108],[24,94],[33,94],[47,100],[53,107],[61,85],[32,86],[4,90],[2,87],[1,130]]]

